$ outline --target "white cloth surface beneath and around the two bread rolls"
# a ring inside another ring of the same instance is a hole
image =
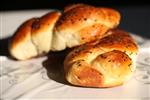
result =
[[[48,11],[1,12],[0,39],[11,36],[26,19],[41,16]],[[42,65],[47,57],[29,61],[14,61],[0,56],[0,97],[2,100],[60,98],[150,100],[150,40],[135,35],[133,37],[140,47],[137,70],[133,78],[122,86],[114,88],[73,87],[47,77],[47,72]],[[50,74],[54,73],[50,72]]]

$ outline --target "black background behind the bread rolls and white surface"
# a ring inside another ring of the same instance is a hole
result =
[[[148,0],[1,0],[1,11],[60,9],[73,3],[111,7],[121,13],[119,27],[150,39],[150,3]],[[6,52],[9,39],[0,40],[0,55]],[[2,53],[3,52],[3,53]],[[5,54],[5,53],[4,53]]]

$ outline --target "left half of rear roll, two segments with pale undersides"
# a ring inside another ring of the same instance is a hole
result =
[[[26,21],[15,33],[10,43],[10,54],[18,60],[48,53],[51,47],[53,27],[60,16],[53,11],[41,18]]]

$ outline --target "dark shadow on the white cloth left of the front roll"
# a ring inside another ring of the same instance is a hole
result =
[[[43,61],[42,65],[47,70],[47,76],[59,83],[69,84],[65,80],[65,72],[64,72],[64,59],[66,55],[69,53],[70,49],[58,51],[58,52],[50,52],[48,54],[48,59]]]

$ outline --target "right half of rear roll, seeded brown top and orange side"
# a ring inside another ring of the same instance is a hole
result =
[[[99,39],[120,22],[119,12],[85,4],[65,8],[54,28],[52,50],[63,50]]]

